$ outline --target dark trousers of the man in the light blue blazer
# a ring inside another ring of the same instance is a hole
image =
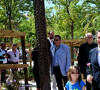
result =
[[[60,67],[54,67],[53,73],[55,74],[55,78],[57,81],[57,86],[59,90],[64,90],[63,86],[67,83],[68,79],[67,76],[63,76],[60,71]]]

